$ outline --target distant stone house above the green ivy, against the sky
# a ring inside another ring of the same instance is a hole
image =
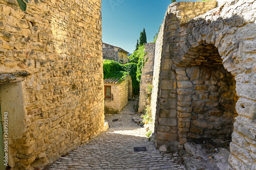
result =
[[[110,45],[107,43],[102,44],[103,60],[115,60],[122,64],[129,62],[127,54],[129,52],[123,50],[123,48]]]

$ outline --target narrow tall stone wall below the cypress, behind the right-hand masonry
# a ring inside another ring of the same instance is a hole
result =
[[[154,59],[155,59],[155,46],[156,43],[145,43],[144,52],[147,53],[144,57],[145,65],[142,68],[141,81],[140,81],[140,100],[139,100],[139,108],[138,112],[143,112],[145,106],[147,105],[145,95],[146,85],[152,84],[153,80],[153,71],[154,71]]]

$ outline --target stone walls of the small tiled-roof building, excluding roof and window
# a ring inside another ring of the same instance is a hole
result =
[[[104,83],[111,86],[111,99],[104,99],[105,113],[119,113],[128,104],[128,99],[132,98],[132,78],[127,78],[121,83]]]

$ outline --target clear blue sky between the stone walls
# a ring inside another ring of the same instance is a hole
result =
[[[147,42],[153,41],[171,3],[171,0],[102,0],[102,41],[133,53],[143,28]]]

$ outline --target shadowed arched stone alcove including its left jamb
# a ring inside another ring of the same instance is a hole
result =
[[[212,138],[231,142],[236,112],[236,81],[212,44],[193,48],[175,66],[178,132],[181,144]]]

